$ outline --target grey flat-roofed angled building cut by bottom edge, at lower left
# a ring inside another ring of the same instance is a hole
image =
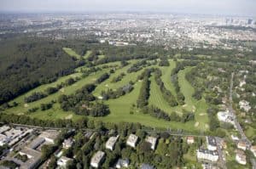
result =
[[[26,155],[27,161],[20,163],[20,169],[32,169],[37,168],[41,163],[41,153],[35,149],[29,149],[27,147],[20,150],[20,155]]]

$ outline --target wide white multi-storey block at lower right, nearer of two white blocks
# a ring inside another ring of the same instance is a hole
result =
[[[197,149],[196,151],[197,159],[199,160],[207,160],[216,162],[218,161],[218,151],[210,150],[210,149]]]

